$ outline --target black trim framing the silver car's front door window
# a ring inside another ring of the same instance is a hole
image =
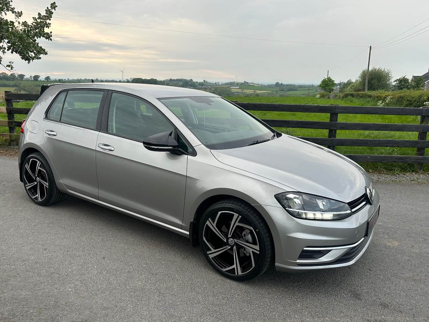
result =
[[[136,142],[142,143],[142,141],[140,141],[140,140],[136,140],[136,139],[133,139],[131,137],[124,137],[123,135],[107,131],[107,127],[108,127],[108,123],[109,123],[110,102],[112,100],[112,94],[113,93],[123,94],[123,95],[134,97],[134,98],[136,98],[138,100],[142,100],[145,104],[151,106],[151,108],[153,108],[157,112],[159,112],[167,120],[167,122],[169,122],[169,124],[172,126],[173,132],[175,132],[176,134],[180,135],[182,137],[182,139],[187,143],[187,145],[190,146],[191,151],[186,152],[186,151],[184,151],[182,149],[181,149],[181,151],[183,151],[185,154],[187,154],[189,156],[196,156],[196,151],[193,148],[192,144],[189,143],[189,141],[187,140],[187,138],[178,130],[178,128],[174,125],[174,123],[171,122],[171,120],[163,112],[161,112],[156,106],[154,106],[154,104],[148,102],[147,100],[145,100],[144,98],[142,98],[142,97],[140,97],[138,95],[134,95],[134,94],[130,94],[130,93],[122,92],[122,91],[108,90],[108,94],[106,95],[106,100],[105,100],[104,106],[103,106],[103,118],[102,118],[101,128],[100,128],[100,132],[101,133],[110,134],[110,135],[113,135],[115,137],[121,137],[123,139],[128,139],[128,140],[132,140],[132,141],[136,141]]]

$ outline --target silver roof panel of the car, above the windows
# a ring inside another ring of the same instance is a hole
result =
[[[110,89],[112,91],[128,92],[130,94],[136,94],[139,92],[139,96],[147,97],[151,96],[154,98],[163,97],[187,97],[187,96],[214,96],[206,91],[199,91],[192,88],[164,86],[164,85],[152,85],[152,84],[138,84],[138,83],[69,83],[69,84],[58,84],[61,89],[66,88],[94,88],[94,89]],[[54,85],[53,87],[57,87]]]

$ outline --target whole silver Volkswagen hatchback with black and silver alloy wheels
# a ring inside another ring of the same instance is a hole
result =
[[[36,204],[69,194],[174,231],[231,279],[353,264],[378,219],[355,162],[205,91],[44,85],[21,132]]]

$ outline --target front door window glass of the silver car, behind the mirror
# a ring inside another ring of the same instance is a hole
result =
[[[107,131],[144,141],[151,135],[171,132],[173,127],[160,112],[145,101],[112,93]]]

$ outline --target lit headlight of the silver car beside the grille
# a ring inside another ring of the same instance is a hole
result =
[[[303,194],[282,192],[275,198],[292,216],[301,219],[343,219],[352,214],[350,207],[341,201]]]

